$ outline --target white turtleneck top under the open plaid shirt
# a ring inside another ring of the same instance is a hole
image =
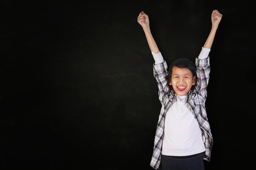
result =
[[[188,156],[205,151],[202,132],[186,96],[176,96],[164,119],[162,155]]]

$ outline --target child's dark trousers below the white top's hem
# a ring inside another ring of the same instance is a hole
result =
[[[204,162],[200,154],[185,157],[162,155],[158,170],[204,170]]]

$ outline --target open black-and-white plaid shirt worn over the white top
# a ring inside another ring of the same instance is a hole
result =
[[[211,148],[213,145],[213,137],[211,135],[210,125],[207,119],[207,113],[205,108],[205,101],[207,97],[207,85],[209,82],[210,74],[210,61],[209,57],[203,60],[195,59],[195,66],[197,67],[198,81],[195,84],[195,88],[189,91],[187,95],[187,103],[192,108],[194,117],[198,121],[198,124],[202,130],[202,136],[204,137],[205,153],[203,159],[210,161],[211,158]],[[161,161],[161,150],[162,141],[164,134],[164,117],[166,111],[171,107],[173,101],[175,101],[176,94],[169,86],[166,79],[167,64],[164,61],[161,64],[153,65],[153,75],[157,80],[158,86],[158,97],[162,104],[162,108],[159,114],[159,119],[157,123],[157,130],[155,133],[153,156],[151,158],[150,166],[154,169],[158,169]]]

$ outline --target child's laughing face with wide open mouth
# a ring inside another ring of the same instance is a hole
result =
[[[189,93],[192,85],[195,85],[195,76],[193,77],[188,68],[173,66],[169,84],[173,86],[173,90],[177,95],[184,96]]]

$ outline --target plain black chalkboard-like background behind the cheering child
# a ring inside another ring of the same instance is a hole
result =
[[[166,61],[211,48],[206,170],[254,169],[255,2],[0,1],[0,169],[153,170],[160,111],[149,15]]]

